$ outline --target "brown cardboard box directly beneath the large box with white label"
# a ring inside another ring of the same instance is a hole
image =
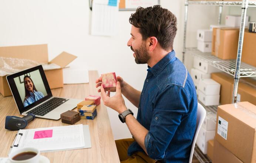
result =
[[[213,143],[212,163],[243,163],[228,149],[223,147],[217,140]]]

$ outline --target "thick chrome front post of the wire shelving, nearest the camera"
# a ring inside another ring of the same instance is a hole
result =
[[[238,54],[236,57],[236,71],[234,74],[234,89],[233,89],[232,103],[236,103],[237,95],[238,95],[240,65],[241,65],[241,57],[242,57],[242,50],[243,50],[243,36],[245,34],[245,20],[246,20],[247,9],[248,9],[248,0],[243,0],[242,13],[241,13],[241,24],[240,24],[239,40],[238,40]]]

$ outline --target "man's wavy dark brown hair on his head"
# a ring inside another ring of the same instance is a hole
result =
[[[139,28],[143,40],[154,36],[164,50],[173,49],[177,18],[171,11],[163,9],[160,5],[138,7],[136,12],[131,14],[129,22]]]

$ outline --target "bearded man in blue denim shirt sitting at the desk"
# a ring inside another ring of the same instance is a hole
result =
[[[101,78],[96,80],[104,104],[119,113],[133,137],[116,140],[119,159],[121,163],[186,163],[195,133],[197,98],[191,76],[173,50],[176,17],[156,5],[139,7],[129,22],[127,45],[137,64],[148,64],[142,92],[121,77],[110,90],[104,90]],[[138,108],[137,119],[125,106],[122,94]]]

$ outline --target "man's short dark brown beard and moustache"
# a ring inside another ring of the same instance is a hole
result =
[[[150,59],[150,56],[148,52],[146,51],[146,46],[145,44],[142,44],[141,47],[139,47],[138,50],[134,50],[131,47],[131,50],[135,52],[135,62],[137,64],[146,64],[148,63],[148,60]]]

